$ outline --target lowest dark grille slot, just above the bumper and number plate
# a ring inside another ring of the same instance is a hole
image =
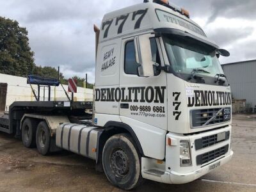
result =
[[[215,150],[211,150],[210,152],[206,152],[204,154],[196,156],[196,164],[205,164],[209,161],[212,161],[220,156],[225,155],[228,152],[228,145],[225,145],[224,147],[217,148]]]

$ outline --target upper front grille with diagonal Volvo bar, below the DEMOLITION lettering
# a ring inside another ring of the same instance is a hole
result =
[[[220,111],[222,108],[214,108],[214,109],[196,109],[191,111],[192,113],[192,127],[202,127],[206,126],[205,124],[212,118],[212,116],[216,115],[218,111]],[[230,108],[228,108],[230,109]],[[229,119],[225,119],[224,111],[221,111],[214,119],[212,119],[210,122],[208,122],[207,125],[214,125],[214,124],[220,124],[222,122],[226,122]]]

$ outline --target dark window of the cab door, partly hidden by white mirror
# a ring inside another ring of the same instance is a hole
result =
[[[160,57],[157,49],[156,38],[150,38],[152,61],[160,65]],[[137,68],[140,64],[136,63],[135,48],[133,40],[127,42],[125,45],[125,60],[124,60],[124,72],[125,74],[137,75]],[[161,70],[154,65],[154,75],[158,76]]]

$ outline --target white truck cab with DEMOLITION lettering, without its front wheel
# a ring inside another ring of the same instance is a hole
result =
[[[143,178],[182,184],[230,160],[231,93],[218,60],[228,52],[188,11],[145,1],[108,13],[97,42],[93,124],[132,133]]]

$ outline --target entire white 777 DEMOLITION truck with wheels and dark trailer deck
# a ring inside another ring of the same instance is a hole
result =
[[[231,93],[218,61],[229,53],[188,11],[144,1],[106,14],[95,32],[93,105],[13,103],[1,131],[21,130],[24,145],[43,155],[65,149],[95,159],[122,189],[143,179],[184,184],[231,159]]]

